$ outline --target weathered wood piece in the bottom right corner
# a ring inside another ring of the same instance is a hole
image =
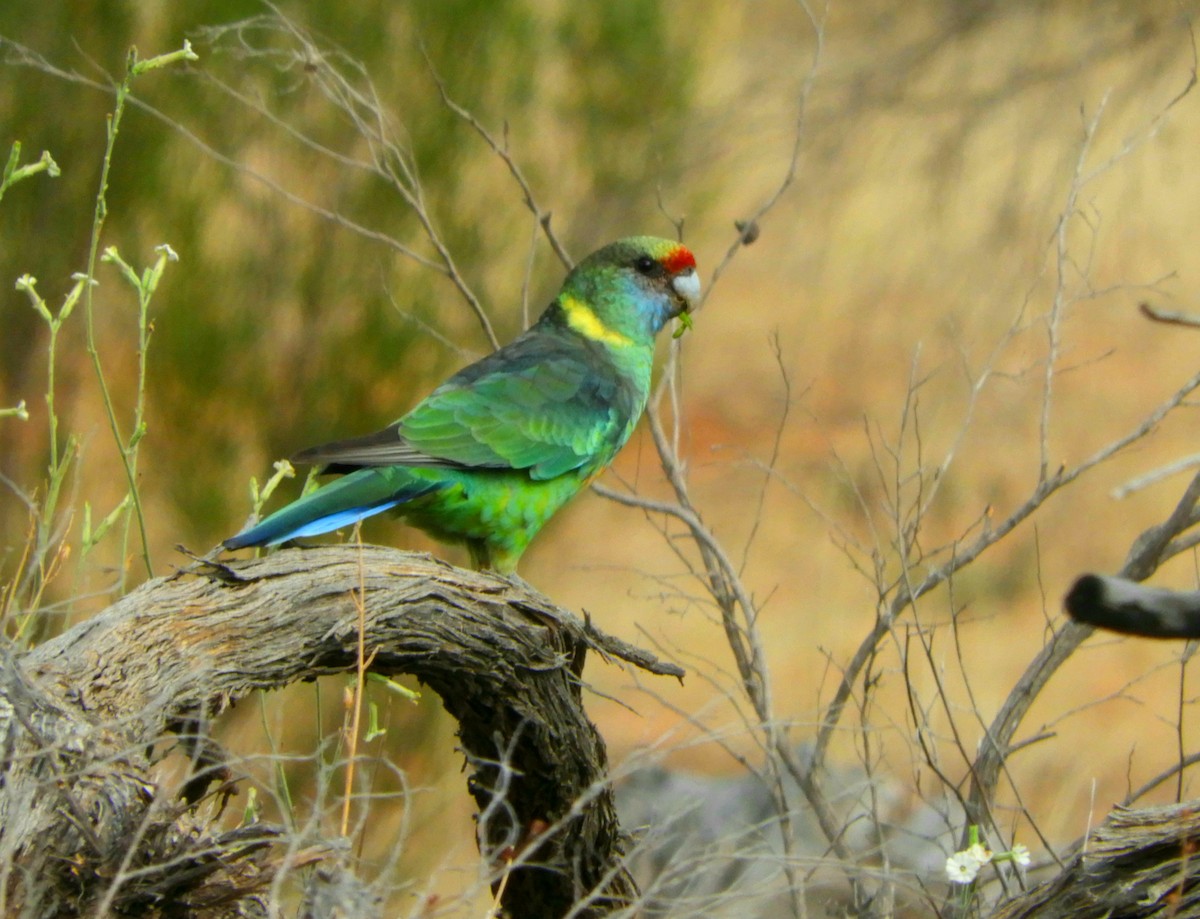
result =
[[[1117,807],[1055,878],[991,919],[1196,919],[1200,803]]]

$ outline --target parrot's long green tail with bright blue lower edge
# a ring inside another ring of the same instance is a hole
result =
[[[437,482],[419,481],[400,467],[359,469],[281,507],[264,521],[224,541],[229,549],[277,546],[290,539],[316,536],[348,527],[397,504],[437,491]]]

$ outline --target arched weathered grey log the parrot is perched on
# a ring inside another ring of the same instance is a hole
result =
[[[354,669],[360,600],[371,669],[415,674],[458,720],[484,855],[517,854],[508,912],[559,917],[590,896],[582,914],[601,915],[628,902],[578,674],[587,649],[682,672],[523,585],[348,546],[198,565],[0,660],[0,914],[246,914],[277,867],[275,830],[222,836],[164,800],[152,779],[163,745],[150,745],[254,690]]]

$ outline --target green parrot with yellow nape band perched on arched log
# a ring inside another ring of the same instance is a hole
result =
[[[466,545],[474,567],[515,575],[530,540],[629,440],[655,337],[674,318],[690,328],[700,290],[679,242],[630,236],[593,252],[533,325],[407,415],[296,454],[340,477],[222,545],[275,546],[394,511]]]

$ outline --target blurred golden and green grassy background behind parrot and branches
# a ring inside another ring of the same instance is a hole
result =
[[[803,744],[875,624],[876,572],[902,567],[898,533],[919,522],[914,569],[944,561],[1028,499],[1043,462],[1081,462],[1198,370],[1200,332],[1136,308],[1200,308],[1188,204],[1200,200],[1200,91],[1184,91],[1195,12],[1040,0],[10,5],[0,140],[20,140],[24,160],[49,150],[62,175],[0,202],[0,407],[29,410],[0,419],[0,591],[25,565],[49,456],[47,326],[13,284],[36,276],[55,306],[85,266],[109,85],[128,49],[150,56],[190,38],[199,55],[136,83],[101,240],[138,268],[158,244],[179,253],[150,311],[138,462],[156,575],[185,561],[176,545],[204,552],[239,530],[251,476],[275,460],[389,424],[487,352],[460,287],[428,264],[442,264],[431,229],[500,341],[557,290],[564,269],[509,164],[443,101],[442,80],[505,145],[575,258],[682,222],[710,293],[682,340],[672,424],[692,500],[762,603],[776,714]],[[385,125],[407,179],[370,167],[378,145],[364,124]],[[734,221],[780,188],[757,241],[713,283]],[[127,426],[137,301],[112,266],[97,276],[97,348]],[[98,519],[126,489],[80,312],[58,349],[59,438],[76,434],[79,455],[56,518],[66,549],[37,593],[42,633],[110,602],[121,572],[126,588],[145,576],[121,527],[78,548],[84,505]],[[1195,443],[1181,409],[922,599],[883,643],[871,704],[832,756],[846,769],[865,756],[894,819],[936,797],[913,695],[946,744],[943,775],[962,781],[958,745],[973,753],[1061,625],[1072,579],[1118,569],[1187,476],[1122,499],[1114,489]],[[605,481],[670,494],[644,431]],[[272,506],[299,487],[281,486]],[[466,563],[392,521],[365,539]],[[584,494],[522,561],[558,603],[689,669],[680,686],[589,662],[589,711],[618,769],[730,776],[737,757],[761,758],[695,559],[661,519]],[[1156,583],[1196,579],[1188,557]],[[910,660],[904,630],[918,621],[934,651]],[[1093,637],[1052,680],[1018,734],[1044,737],[1010,759],[1002,801],[1036,859],[1048,857],[1021,807],[1062,846],[1196,749],[1192,675],[1183,645]],[[379,805],[368,852],[412,884],[397,896],[452,902],[478,872],[454,725],[428,695],[379,704],[412,793]],[[220,727],[246,756],[323,756],[340,717],[340,691],[300,687]],[[302,757],[286,771],[295,794],[318,793]],[[1142,801],[1178,791],[1172,779]],[[1183,795],[1195,792],[1184,773]]]

